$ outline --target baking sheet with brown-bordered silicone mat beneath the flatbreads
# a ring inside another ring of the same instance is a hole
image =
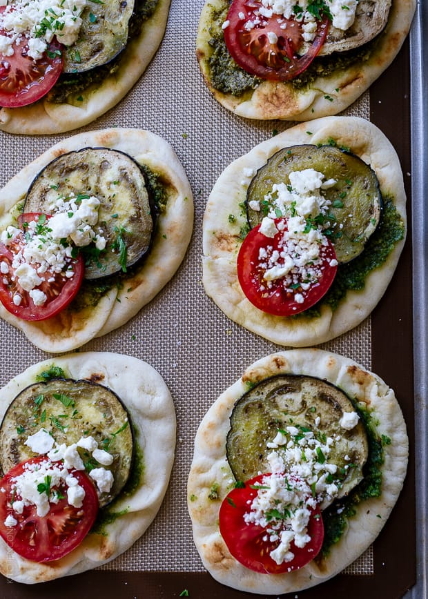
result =
[[[197,424],[206,409],[217,395],[240,376],[246,366],[262,355],[276,351],[278,346],[229,322],[204,295],[201,284],[201,226],[206,198],[222,170],[259,141],[273,135],[274,130],[284,130],[290,124],[240,119],[231,115],[211,97],[204,86],[194,55],[197,18],[202,4],[202,0],[172,0],[165,39],[145,75],[119,106],[86,128],[93,130],[109,126],[134,126],[162,135],[175,148],[195,195],[193,241],[184,264],[171,284],[119,331],[114,331],[101,340],[94,340],[82,348],[129,353],[146,360],[163,375],[175,400],[179,425],[177,455],[170,489],[161,511],[146,535],[119,561],[67,581],[58,580],[36,587],[9,584],[1,578],[0,598],[26,599],[43,596],[48,599],[57,598],[59,593],[63,598],[75,598],[78,595],[86,597],[89,596],[88,589],[97,589],[97,594],[106,598],[120,595],[124,599],[179,596],[184,589],[188,589],[189,596],[193,598],[248,597],[246,593],[218,585],[204,573],[191,538],[191,524],[186,511],[186,477]],[[422,23],[419,26],[415,35],[420,36]],[[415,42],[412,39],[412,44],[416,48],[412,52],[413,61],[421,56],[420,38]],[[412,80],[414,79],[415,76]],[[420,77],[420,86],[422,81]],[[408,86],[407,47],[400,53],[393,67],[372,86],[370,93],[364,94],[345,114],[371,119],[393,141],[406,173],[410,203]],[[420,97],[422,99],[422,90]],[[416,118],[413,122],[418,121],[421,125],[422,114],[423,112],[416,112],[414,108]],[[65,136],[52,137],[14,137],[1,134],[1,184],[43,150],[73,134],[74,132],[70,132]],[[420,157],[423,157],[422,152]],[[418,163],[416,166],[419,169],[421,165]],[[417,201],[422,202],[422,197],[421,188]],[[422,214],[423,212],[419,212],[419,216]],[[420,226],[420,222],[422,219],[417,218],[416,226]],[[420,233],[422,235],[423,230]],[[422,246],[418,244],[417,247]],[[422,266],[419,265],[418,268]],[[416,272],[425,273],[424,270]],[[324,348],[349,355],[373,369],[396,389],[413,440],[410,273],[409,239],[398,272],[373,317],[358,329],[326,344]],[[422,306],[421,301],[418,308]],[[424,312],[425,308],[421,311],[422,317]],[[421,324],[423,321],[418,320],[415,326],[415,331],[418,329],[415,344],[421,333],[415,355],[425,358],[422,350],[426,337],[422,335]],[[425,328],[423,331],[425,333]],[[32,347],[26,337],[6,323],[0,322],[0,337],[3,355],[14,356],[14,360],[3,361],[1,364],[0,384],[6,383],[26,366],[48,357]],[[400,356],[399,359],[397,356]],[[418,358],[416,380],[419,369]],[[423,380],[425,381],[425,377]],[[419,386],[418,389],[423,387]],[[425,427],[425,423],[423,426]],[[418,445],[418,451],[419,448]],[[422,460],[422,457],[418,454],[418,459]],[[422,463],[426,464],[426,461]],[[377,595],[382,596],[382,599],[392,599],[401,596],[402,591],[413,584],[414,533],[411,532],[410,536],[407,534],[409,529],[414,530],[412,469],[409,469],[404,491],[391,520],[369,554],[373,566],[369,565],[367,570],[367,566],[363,564],[362,567],[356,567],[352,574],[345,573],[324,585],[300,591],[299,598],[343,596],[342,593],[346,592],[350,599],[360,597],[363,593],[367,598]],[[422,495],[420,501],[422,497],[425,500]],[[423,513],[424,505],[425,501],[420,504],[420,514]],[[401,580],[396,585],[398,573]],[[93,593],[90,594],[92,596]],[[414,599],[424,596],[422,593],[412,595]]]

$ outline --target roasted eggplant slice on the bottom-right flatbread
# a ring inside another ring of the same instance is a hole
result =
[[[338,387],[315,377],[278,375],[270,377],[245,393],[235,404],[231,429],[226,441],[226,455],[236,480],[244,481],[260,472],[268,472],[266,456],[279,430],[293,426],[317,437],[340,435],[335,441],[329,462],[336,464],[345,495],[362,479],[367,460],[367,434],[361,420],[351,430],[343,429],[344,412],[355,408]],[[325,436],[324,436],[325,435]],[[280,450],[278,450],[280,451]],[[346,458],[345,458],[346,456]],[[352,464],[352,468],[345,468]]]

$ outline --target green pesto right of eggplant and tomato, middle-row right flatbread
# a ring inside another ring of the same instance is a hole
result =
[[[333,284],[320,302],[313,308],[296,314],[293,318],[318,317],[320,308],[324,304],[334,311],[348,291],[364,289],[367,275],[385,263],[396,243],[403,239],[404,234],[405,224],[398,214],[396,206],[390,197],[384,198],[382,219],[376,231],[369,237],[364,251],[351,262],[340,264]]]

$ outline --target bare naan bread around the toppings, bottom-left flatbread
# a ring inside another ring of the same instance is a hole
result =
[[[107,534],[90,533],[61,560],[51,564],[30,562],[0,539],[1,573],[27,584],[93,569],[126,551],[155,518],[168,487],[175,454],[176,420],[171,393],[152,366],[127,355],[87,352],[30,366],[0,390],[1,418],[17,393],[52,364],[61,366],[71,378],[95,379],[119,395],[136,429],[136,440],[144,455],[144,475],[139,488],[115,506],[115,511],[126,513],[104,526]]]

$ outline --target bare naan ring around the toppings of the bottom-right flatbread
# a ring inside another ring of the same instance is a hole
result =
[[[265,576],[243,567],[229,553],[218,529],[218,511],[231,488],[233,475],[226,460],[226,435],[235,402],[254,383],[280,373],[311,375],[339,386],[350,397],[371,410],[378,422],[379,435],[387,435],[391,444],[384,447],[382,495],[365,501],[341,540],[333,545],[329,557],[312,562],[291,573]],[[193,462],[188,478],[188,510],[193,539],[204,567],[224,585],[260,594],[295,592],[335,576],[369,547],[380,533],[405,480],[408,460],[406,425],[391,389],[380,377],[350,360],[316,348],[275,353],[255,362],[241,379],[214,402],[195,438]],[[209,500],[214,483],[219,484],[219,500]]]

